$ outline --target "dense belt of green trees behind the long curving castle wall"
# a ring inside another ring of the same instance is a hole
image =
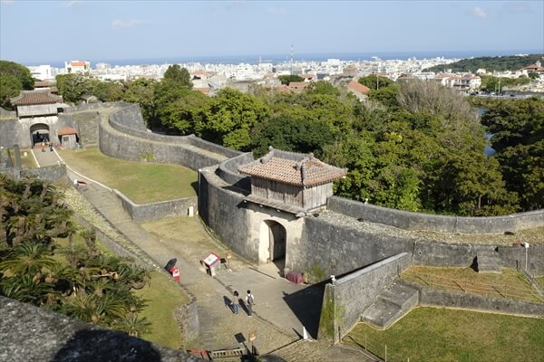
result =
[[[345,87],[312,83],[301,93],[253,86],[209,97],[172,66],[162,81],[100,82],[58,77],[64,99],[138,102],[151,129],[195,134],[259,157],[268,146],[316,157],[348,175],[335,195],[374,205],[436,214],[496,215],[544,206],[544,101],[487,104],[480,119],[469,99],[435,82],[370,75],[360,102]],[[82,90],[83,88],[83,90]],[[497,150],[486,157],[490,142]]]

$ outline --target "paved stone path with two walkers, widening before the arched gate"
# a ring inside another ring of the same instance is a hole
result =
[[[53,152],[39,155],[41,152],[34,151],[34,154],[41,166],[54,165],[59,160]],[[68,170],[68,176],[81,178],[71,170]],[[212,278],[198,260],[184,257],[188,254],[187,244],[147,233],[140,224],[133,222],[112,191],[89,181],[82,193],[106,220],[150,255],[157,265],[164,266],[170,259],[178,259],[176,265],[180,267],[181,283],[197,298],[202,348],[238,347],[237,335],[241,333],[248,338],[249,332],[256,332],[256,346],[261,354],[273,353],[284,356],[287,361],[364,360],[357,352],[329,347],[321,342],[297,342],[302,335],[303,321],[306,325],[310,319],[318,320],[315,312],[306,311],[305,314],[304,304],[304,300],[321,298],[316,288],[288,282],[280,278],[277,271],[275,275],[270,266],[259,270],[243,262],[235,263],[231,272],[220,271]],[[201,231],[206,234],[203,227]],[[243,298],[247,289],[256,296],[253,318],[248,318],[243,310],[234,315],[225,302],[226,298],[232,298],[232,291],[238,290]],[[250,347],[248,343],[246,346]]]

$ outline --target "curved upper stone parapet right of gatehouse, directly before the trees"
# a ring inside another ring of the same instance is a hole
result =
[[[411,213],[336,196],[329,197],[327,209],[371,223],[439,233],[505,233],[544,226],[544,210],[491,217],[444,216]]]

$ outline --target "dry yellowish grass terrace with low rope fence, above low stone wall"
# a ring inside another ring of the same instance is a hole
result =
[[[501,273],[479,273],[471,268],[413,266],[404,271],[401,278],[440,290],[544,302],[527,278],[520,271],[512,269],[502,269]]]

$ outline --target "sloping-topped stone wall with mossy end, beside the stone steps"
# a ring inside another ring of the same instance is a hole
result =
[[[391,286],[394,278],[411,263],[412,255],[402,252],[326,284],[319,338],[332,337],[335,343],[338,342],[361,320],[364,310],[374,303],[376,297]],[[333,335],[330,336],[326,330],[334,330]]]

